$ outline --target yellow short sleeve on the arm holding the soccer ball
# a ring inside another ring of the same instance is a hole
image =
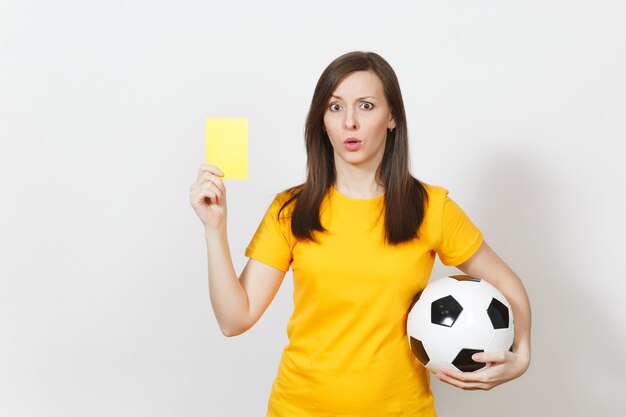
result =
[[[435,251],[444,265],[462,264],[471,258],[482,244],[482,233],[447,193],[441,219],[441,240]]]

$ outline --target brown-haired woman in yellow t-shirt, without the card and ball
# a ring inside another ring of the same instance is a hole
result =
[[[263,314],[289,267],[294,312],[268,416],[434,416],[429,375],[408,347],[406,317],[438,254],[483,278],[516,318],[512,352],[481,353],[477,372],[440,371],[488,390],[530,362],[530,306],[517,275],[441,187],[409,173],[407,123],[396,75],[371,52],[335,59],[308,114],[304,184],[279,193],[239,279],[226,236],[223,173],[203,165],[191,204],[206,231],[211,303],[223,333]]]

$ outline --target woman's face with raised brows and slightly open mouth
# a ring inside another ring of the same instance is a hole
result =
[[[333,92],[324,127],[340,164],[376,170],[385,152],[387,129],[395,123],[380,78],[372,71],[346,76]]]

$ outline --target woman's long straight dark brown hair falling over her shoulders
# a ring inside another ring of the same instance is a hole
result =
[[[376,181],[385,189],[385,240],[389,244],[410,241],[418,237],[428,195],[409,172],[408,130],[398,78],[389,63],[374,52],[354,51],[336,58],[317,81],[304,130],[306,182],[287,190],[290,197],[278,216],[295,201],[291,231],[296,238],[316,242],[313,232],[326,231],[319,212],[324,195],[335,183],[336,171],[333,147],[322,129],[324,114],[339,83],[355,71],[373,71],[380,78],[396,125],[392,132],[387,130],[385,152],[376,170]]]

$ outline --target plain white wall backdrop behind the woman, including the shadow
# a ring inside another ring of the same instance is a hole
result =
[[[249,118],[250,179],[227,182],[240,271],[304,179],[319,75],[352,50],[394,67],[413,173],[531,298],[529,371],[433,379],[439,415],[623,415],[624,21],[605,0],[0,0],[0,415],[264,415],[291,273],[222,336],[188,201],[204,120]]]

